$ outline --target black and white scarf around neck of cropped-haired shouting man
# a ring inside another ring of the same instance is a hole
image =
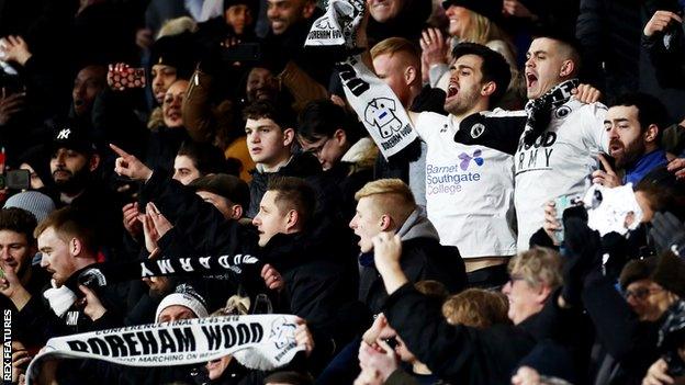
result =
[[[566,80],[549,90],[542,97],[529,100],[526,103],[525,110],[528,114],[526,131],[524,132],[526,145],[532,145],[542,135],[549,126],[552,111],[571,99],[571,91],[577,88],[579,83],[577,79]]]

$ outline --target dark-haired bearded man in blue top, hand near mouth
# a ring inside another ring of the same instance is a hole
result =
[[[666,109],[659,99],[641,92],[619,97],[604,121],[616,167],[613,169],[602,156],[604,170],[593,172],[593,183],[636,185],[651,170],[665,166],[669,160],[660,144],[666,125]],[[624,177],[615,170],[624,171]]]

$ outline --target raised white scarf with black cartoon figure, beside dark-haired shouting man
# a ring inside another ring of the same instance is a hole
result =
[[[409,116],[395,93],[364,66],[360,56],[348,58],[337,69],[348,103],[385,159],[417,138]]]

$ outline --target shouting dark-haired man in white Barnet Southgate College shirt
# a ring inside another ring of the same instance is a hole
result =
[[[358,44],[364,41],[358,31]],[[506,282],[508,257],[516,253],[514,180],[507,170],[517,134],[506,127],[486,128],[478,113],[505,93],[509,66],[498,53],[472,43],[454,47],[452,57],[445,100],[449,115],[408,113],[427,145],[427,215],[440,244],[459,248],[471,284],[498,286]],[[460,128],[469,116],[471,125]]]

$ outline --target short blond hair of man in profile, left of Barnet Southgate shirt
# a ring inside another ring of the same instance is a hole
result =
[[[357,201],[362,197],[374,199],[378,210],[388,213],[397,226],[401,226],[416,210],[412,190],[400,179],[379,179],[369,182],[355,194]]]

